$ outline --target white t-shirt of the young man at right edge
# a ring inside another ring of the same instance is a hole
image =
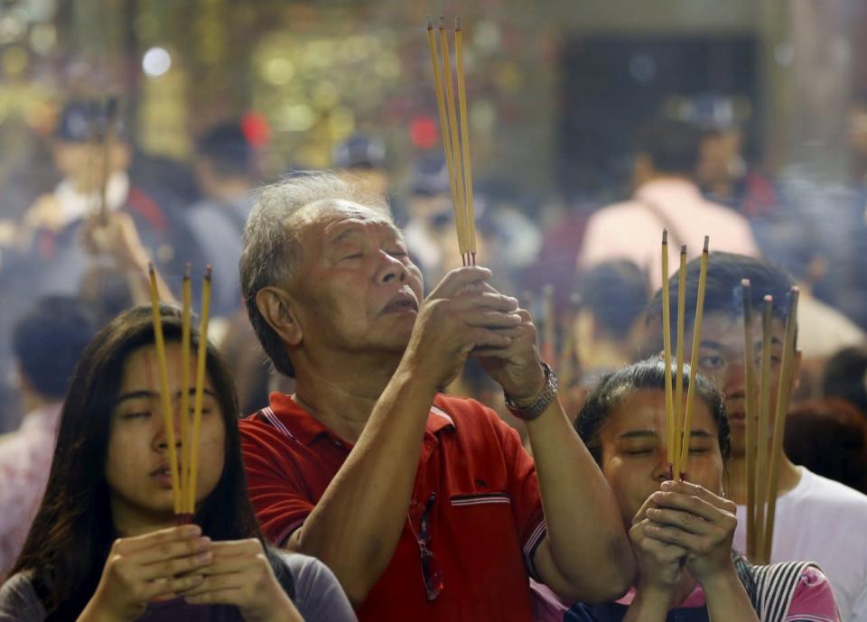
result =
[[[867,495],[798,467],[801,480],[777,499],[770,562],[816,562],[844,622],[867,622]],[[746,507],[734,547],[746,551]]]

